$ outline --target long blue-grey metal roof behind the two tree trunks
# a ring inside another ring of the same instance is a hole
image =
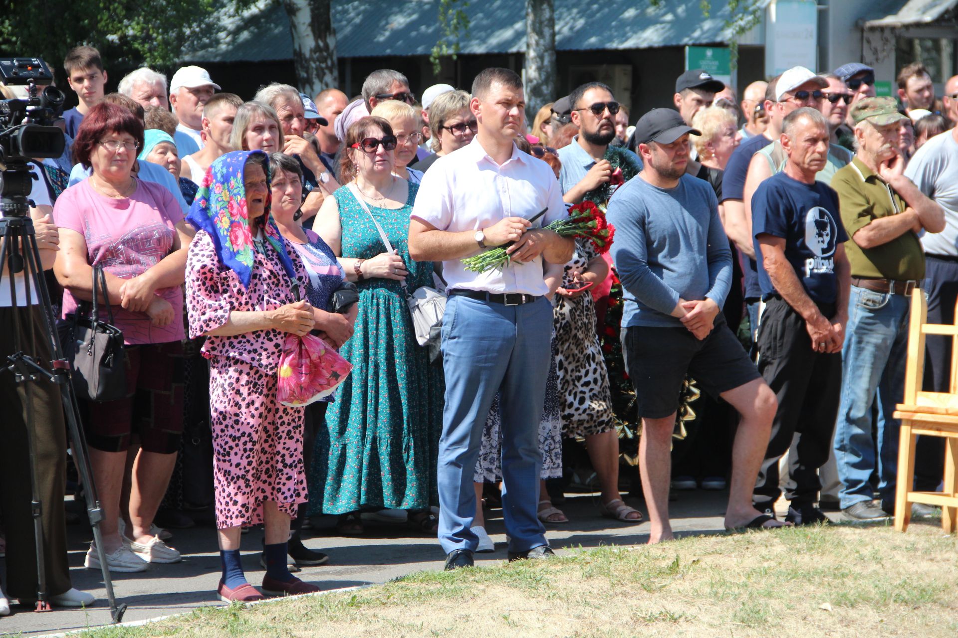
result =
[[[764,7],[770,0],[758,0]],[[744,4],[744,3],[742,3]],[[728,39],[727,0],[712,0],[709,17],[700,0],[555,0],[558,51],[651,49]],[[437,0],[332,0],[336,55],[429,55],[439,39]],[[472,0],[463,54],[521,53],[526,49],[525,0]],[[286,13],[277,0],[260,0],[239,14],[220,11],[218,33],[184,52],[184,61],[241,62],[292,58]]]

